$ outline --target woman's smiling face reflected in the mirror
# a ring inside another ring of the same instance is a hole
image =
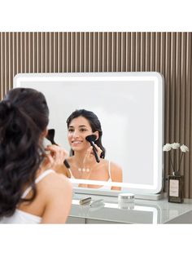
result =
[[[92,131],[89,121],[85,117],[73,118],[68,126],[68,142],[72,150],[74,152],[87,150],[90,143],[85,137],[93,134],[98,137],[98,131]]]

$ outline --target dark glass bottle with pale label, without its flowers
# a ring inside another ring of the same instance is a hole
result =
[[[168,175],[168,202],[183,203],[184,176],[173,173]]]

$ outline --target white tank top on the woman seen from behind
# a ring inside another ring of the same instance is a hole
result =
[[[37,184],[41,179],[46,177],[46,175],[55,172],[55,170],[45,170],[42,174],[40,174],[37,179],[35,179],[35,183]],[[31,191],[31,187],[28,187],[21,198],[24,198],[28,195],[28,193]],[[35,224],[35,223],[41,223],[41,217],[33,214],[28,214],[27,212],[23,210],[16,209],[15,213],[11,217],[3,217],[0,219],[1,224]]]

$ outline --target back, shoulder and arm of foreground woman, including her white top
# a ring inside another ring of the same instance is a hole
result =
[[[35,200],[30,204],[23,202],[12,216],[3,217],[0,223],[65,223],[72,201],[69,193],[71,184],[63,175],[56,174],[55,170],[43,171],[35,183],[37,184]],[[26,188],[22,197],[28,198],[30,192],[31,187]],[[52,200],[50,200],[50,194]],[[59,213],[55,201],[61,201]],[[53,205],[55,205],[55,209],[53,209]]]

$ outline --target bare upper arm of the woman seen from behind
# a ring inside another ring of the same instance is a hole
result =
[[[72,183],[60,174],[50,178],[46,184],[46,207],[41,223],[65,223],[72,205]]]

